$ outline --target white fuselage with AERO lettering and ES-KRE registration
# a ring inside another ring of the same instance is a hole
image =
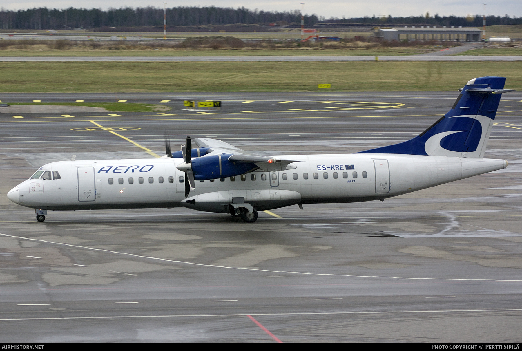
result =
[[[257,170],[243,176],[196,181],[198,204],[219,200],[245,202],[257,210],[298,203],[357,202],[384,199],[449,183],[507,166],[505,160],[397,154],[284,155],[296,161],[285,171]],[[45,210],[140,209],[185,206],[182,159],[62,161],[46,164],[59,179],[27,179],[8,193],[10,200]],[[306,178],[307,175],[307,178]],[[233,179],[233,180],[232,180]],[[255,180],[254,180],[255,179]],[[217,194],[208,195],[210,193]],[[238,195],[239,194],[239,195]],[[208,196],[207,196],[208,195]],[[208,200],[205,200],[208,199]]]

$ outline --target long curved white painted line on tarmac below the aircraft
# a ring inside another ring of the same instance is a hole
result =
[[[378,217],[378,218],[388,218],[388,217]],[[397,218],[397,217],[395,217],[395,218]],[[402,218],[402,217],[398,217],[398,218]],[[10,234],[3,234],[3,233],[0,233],[0,235],[7,236],[7,237],[10,237],[10,238],[18,238],[18,239],[25,239],[25,240],[32,240],[32,241],[40,241],[41,243],[49,243],[49,244],[63,245],[63,246],[69,246],[69,247],[77,247],[77,248],[93,250],[93,251],[111,252],[111,253],[116,253],[117,255],[124,255],[124,256],[130,256],[130,257],[140,257],[140,258],[147,258],[147,259],[151,259],[151,260],[158,260],[158,261],[163,261],[163,262],[173,262],[173,263],[180,263],[180,264],[190,264],[190,265],[197,265],[197,266],[200,266],[200,267],[232,269],[232,270],[236,270],[236,271],[242,271],[243,270],[243,271],[270,272],[270,273],[290,273],[290,274],[303,274],[303,275],[345,276],[345,277],[354,277],[354,278],[377,278],[377,279],[423,280],[423,281],[522,282],[522,279],[432,278],[432,277],[404,277],[404,276],[387,276],[387,275],[354,275],[354,274],[338,274],[338,273],[311,273],[311,272],[298,272],[298,271],[273,271],[273,270],[268,270],[268,269],[244,268],[244,267],[229,267],[229,266],[226,266],[226,265],[205,264],[205,263],[195,263],[195,262],[188,262],[188,261],[169,260],[169,259],[166,259],[166,258],[136,255],[136,253],[120,252],[120,251],[113,251],[113,250],[107,250],[107,249],[98,249],[98,248],[93,248],[93,247],[88,247],[88,246],[80,246],[80,245],[73,245],[73,244],[57,243],[56,241],[50,241],[50,240],[44,240],[44,239],[34,239],[34,238],[28,238],[28,237],[25,237],[25,236],[10,235]],[[242,314],[242,316],[246,316],[246,314]],[[253,316],[253,314],[252,314],[252,316]],[[0,320],[2,320],[2,319],[0,319]]]

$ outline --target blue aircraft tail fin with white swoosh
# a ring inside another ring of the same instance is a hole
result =
[[[451,110],[417,137],[399,144],[358,153],[395,153],[483,158],[501,94],[504,77],[471,79]]]

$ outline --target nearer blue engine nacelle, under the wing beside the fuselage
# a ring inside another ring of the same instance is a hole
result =
[[[192,160],[192,172],[195,180],[207,180],[234,177],[248,171],[257,170],[253,163],[230,162],[232,154],[205,156]]]

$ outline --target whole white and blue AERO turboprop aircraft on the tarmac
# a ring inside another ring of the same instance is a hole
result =
[[[384,200],[507,166],[484,159],[503,77],[468,81],[452,109],[419,136],[355,154],[258,156],[221,140],[187,137],[160,159],[61,161],[39,168],[7,193],[35,209],[174,208],[231,213],[303,203]]]

